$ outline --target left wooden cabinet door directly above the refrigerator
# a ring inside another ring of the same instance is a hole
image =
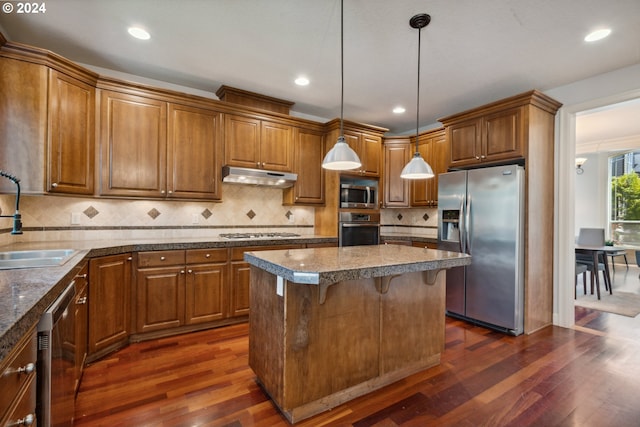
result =
[[[473,119],[456,123],[447,128],[451,145],[451,166],[465,166],[478,163],[482,153],[481,120]]]

